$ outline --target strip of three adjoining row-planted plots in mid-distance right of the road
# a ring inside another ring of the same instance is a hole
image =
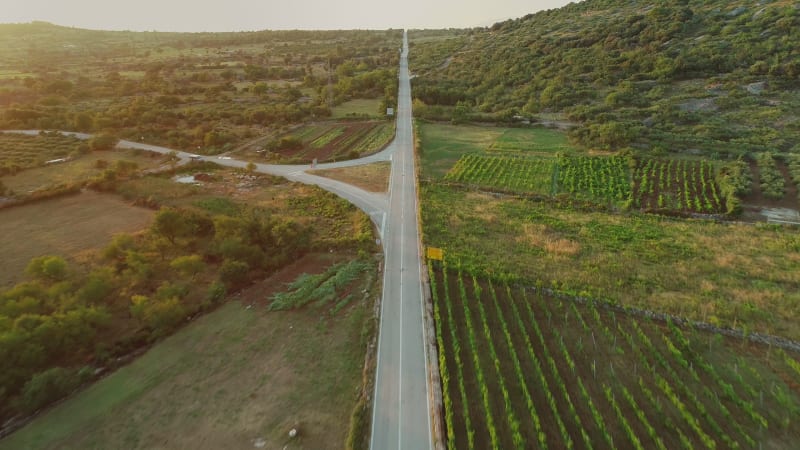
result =
[[[518,193],[568,193],[600,204],[628,202],[644,211],[725,211],[725,196],[714,166],[708,161],[636,161],[621,156],[554,159],[473,153],[462,156],[445,180]]]

